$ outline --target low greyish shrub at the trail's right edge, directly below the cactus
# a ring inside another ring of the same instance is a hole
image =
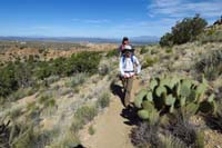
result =
[[[132,129],[130,135],[131,141],[137,147],[158,147],[161,145],[158,130],[158,125],[141,122],[138,127]]]

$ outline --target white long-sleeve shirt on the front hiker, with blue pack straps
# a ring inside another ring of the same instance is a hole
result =
[[[141,66],[138,58],[135,56],[132,56],[132,59],[131,57],[127,58],[123,56],[120,58],[119,68],[120,68],[121,76],[127,75],[127,77],[132,77],[135,73],[140,73]]]

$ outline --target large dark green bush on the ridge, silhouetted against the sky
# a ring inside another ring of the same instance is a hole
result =
[[[161,40],[161,46],[181,45],[196,40],[198,36],[203,31],[206,21],[196,14],[193,18],[184,18],[181,22],[176,22],[172,27],[171,33],[165,33]]]

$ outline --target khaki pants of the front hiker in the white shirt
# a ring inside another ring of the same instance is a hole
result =
[[[122,79],[123,88],[124,88],[124,106],[127,107],[130,105],[130,97],[131,97],[131,90],[133,85],[133,77],[130,78],[123,78]]]

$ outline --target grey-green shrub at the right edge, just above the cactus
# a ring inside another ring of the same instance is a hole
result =
[[[199,73],[204,73],[209,80],[218,78],[222,73],[222,49],[204,55],[195,63],[195,69]]]

